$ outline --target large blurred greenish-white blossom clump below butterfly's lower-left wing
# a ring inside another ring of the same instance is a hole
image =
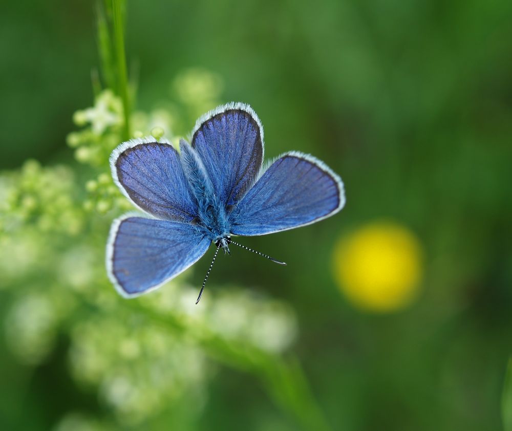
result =
[[[70,364],[79,381],[100,387],[121,422],[136,424],[185,392],[203,391],[209,373],[195,344],[144,316],[119,314],[77,325]]]

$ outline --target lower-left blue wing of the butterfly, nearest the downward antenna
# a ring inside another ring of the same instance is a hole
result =
[[[134,297],[187,269],[209,245],[194,225],[128,214],[112,223],[106,267],[117,291]]]

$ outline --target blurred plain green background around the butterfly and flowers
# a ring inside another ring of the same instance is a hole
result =
[[[88,2],[9,2],[0,16],[0,168],[12,173],[28,158],[69,165],[78,200],[84,180],[99,172],[79,165],[66,145],[77,129],[73,112],[93,104],[95,11]],[[221,102],[250,103],[259,114],[267,158],[311,153],[345,182],[347,205],[335,217],[245,240],[287,267],[234,250],[219,256],[205,292],[251,289],[293,309],[299,332],[284,356],[302,364],[332,429],[502,428],[512,344],[511,19],[506,0],[127,2],[137,109],[173,100],[181,71],[208,70],[222,79]],[[94,216],[98,244],[115,215]],[[411,229],[425,260],[417,300],[375,315],[339,292],[332,255],[338,238],[381,219]],[[190,271],[192,285],[209,256]],[[26,282],[2,278],[4,328]],[[40,289],[52,283],[43,272]],[[106,294],[123,308],[113,289]],[[52,429],[70,411],[106,418],[114,429],[300,426],[253,374],[222,361],[200,413],[180,422],[177,412],[194,401],[177,397],[143,422],[118,422],[97,388],[72,378],[67,325],[35,365],[0,335],[2,429]]]

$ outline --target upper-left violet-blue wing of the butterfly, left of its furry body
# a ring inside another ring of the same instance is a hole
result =
[[[136,207],[159,219],[190,222],[197,215],[177,151],[151,138],[120,144],[110,157],[115,183]]]

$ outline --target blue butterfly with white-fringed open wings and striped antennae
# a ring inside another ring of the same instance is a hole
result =
[[[145,214],[112,223],[106,268],[117,291],[135,297],[156,289],[231,235],[252,236],[318,222],[345,205],[343,182],[325,163],[298,152],[263,164],[263,127],[249,105],[228,103],[196,122],[180,152],[168,141],[132,139],[114,149],[112,177]]]

